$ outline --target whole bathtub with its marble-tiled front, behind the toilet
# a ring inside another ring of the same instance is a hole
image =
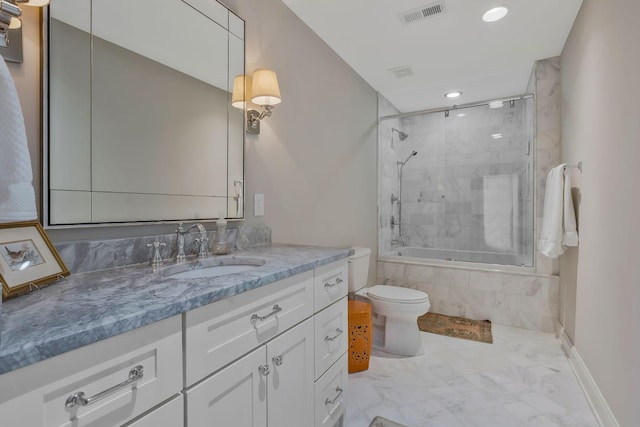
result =
[[[516,260],[514,254],[401,247],[379,255],[377,283],[427,293],[434,313],[554,332],[559,277],[509,265]]]

